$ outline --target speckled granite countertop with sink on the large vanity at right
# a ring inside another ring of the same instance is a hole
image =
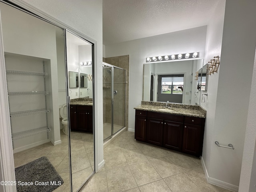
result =
[[[168,108],[166,108],[164,102],[142,102],[141,105],[134,109],[206,118],[206,110],[196,105],[169,103]]]

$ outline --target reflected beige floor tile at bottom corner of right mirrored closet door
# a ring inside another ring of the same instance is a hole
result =
[[[77,191],[82,186],[82,184],[88,179],[90,174],[92,174],[91,167],[88,167],[86,169],[80,170],[72,174],[73,191]]]

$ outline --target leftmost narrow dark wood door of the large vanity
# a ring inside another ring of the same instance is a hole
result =
[[[135,139],[146,141],[146,117],[135,116]]]

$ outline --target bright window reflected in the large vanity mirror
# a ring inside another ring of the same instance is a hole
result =
[[[162,94],[182,94],[184,75],[172,75],[161,77],[161,93]]]

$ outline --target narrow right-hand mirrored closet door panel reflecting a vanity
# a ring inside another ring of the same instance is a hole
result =
[[[78,191],[94,172],[92,44],[66,31],[67,68],[80,76],[80,86],[68,87],[72,190]]]

